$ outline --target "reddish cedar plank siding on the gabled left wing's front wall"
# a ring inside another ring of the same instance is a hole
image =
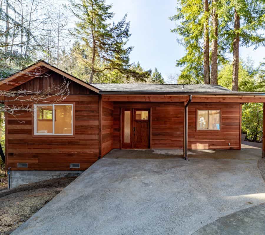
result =
[[[59,86],[62,82],[61,75],[51,72],[48,77],[34,78],[16,90],[46,90],[52,84]],[[20,111],[21,115],[16,116],[8,114],[7,167],[12,167],[12,170],[85,170],[97,161],[99,96],[73,81],[70,81],[69,91],[70,95],[63,102],[74,103],[74,137],[35,137],[32,135],[33,120],[30,112]],[[21,102],[9,105],[21,105]],[[28,168],[17,168],[18,162],[27,162]],[[80,163],[80,168],[70,169],[69,163]]]

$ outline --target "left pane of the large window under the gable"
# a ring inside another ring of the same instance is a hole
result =
[[[52,106],[37,105],[37,128],[39,134],[52,134]]]

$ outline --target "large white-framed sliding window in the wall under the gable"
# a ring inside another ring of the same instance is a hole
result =
[[[34,104],[34,135],[73,135],[73,104]]]

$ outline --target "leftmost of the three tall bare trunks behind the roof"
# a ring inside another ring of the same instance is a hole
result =
[[[210,61],[209,61],[209,17],[208,0],[203,0],[203,12],[207,17],[203,24],[203,82],[210,84]]]

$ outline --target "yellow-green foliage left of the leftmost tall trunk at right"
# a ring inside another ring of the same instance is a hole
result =
[[[176,66],[183,68],[178,81],[201,84],[203,82],[203,3],[201,0],[178,0],[177,14],[170,17],[176,21],[172,33],[178,33],[183,39],[178,43],[185,48],[185,55]]]

